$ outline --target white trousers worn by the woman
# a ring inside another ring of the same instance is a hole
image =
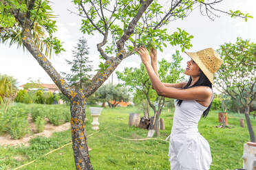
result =
[[[171,170],[209,170],[211,150],[199,133],[170,135],[169,161]]]

